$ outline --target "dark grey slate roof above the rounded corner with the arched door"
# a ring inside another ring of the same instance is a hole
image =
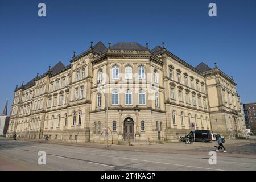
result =
[[[110,46],[110,49],[124,51],[146,51],[146,47],[142,46],[137,42],[118,42],[113,46]]]

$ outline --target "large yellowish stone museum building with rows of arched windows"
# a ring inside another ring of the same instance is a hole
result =
[[[96,45],[17,87],[9,137],[75,142],[174,141],[191,130],[243,134],[236,84],[218,68],[192,67],[166,48]],[[226,87],[228,84],[228,87]],[[222,100],[221,89],[233,100]],[[235,119],[234,119],[235,118]],[[218,122],[215,122],[217,119]],[[217,124],[216,124],[217,123]],[[108,137],[105,129],[108,128]]]

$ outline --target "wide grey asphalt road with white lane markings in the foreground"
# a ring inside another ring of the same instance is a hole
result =
[[[46,152],[46,165],[38,152]],[[0,140],[0,170],[256,170],[256,159],[217,155],[117,151],[59,144]]]

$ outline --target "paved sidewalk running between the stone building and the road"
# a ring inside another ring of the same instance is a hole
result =
[[[27,140],[27,139],[20,139]],[[217,145],[217,142],[209,142],[202,143],[196,142],[193,144],[185,144],[185,143],[164,143],[164,144],[154,144],[154,145],[138,145],[138,146],[121,146],[115,145],[105,147],[105,144],[93,144],[93,143],[75,143],[75,142],[63,142],[56,140],[43,140],[43,139],[30,139],[30,142],[40,142],[40,143],[52,143],[52,144],[61,144],[61,145],[69,145],[69,146],[80,146],[80,147],[88,147],[88,148],[101,148],[108,150],[118,150],[118,151],[144,151],[144,152],[161,152],[161,153],[172,153],[172,154],[193,154],[193,155],[208,155],[210,150],[214,150],[214,146]],[[250,140],[243,139],[235,139],[235,140],[226,140],[225,147],[242,147],[255,144],[256,138],[251,138]],[[232,156],[232,157],[244,157],[244,158],[256,158],[256,152],[240,152],[236,150],[232,150],[232,152],[222,153],[219,152],[220,156]]]

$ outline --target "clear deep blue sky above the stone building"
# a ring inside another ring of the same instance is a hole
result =
[[[46,17],[38,4],[46,3]],[[217,5],[217,17],[208,5]],[[44,73],[73,51],[94,43],[166,42],[196,66],[214,62],[237,82],[243,103],[256,102],[256,1],[57,1],[0,0],[0,111],[13,101],[16,84]]]

